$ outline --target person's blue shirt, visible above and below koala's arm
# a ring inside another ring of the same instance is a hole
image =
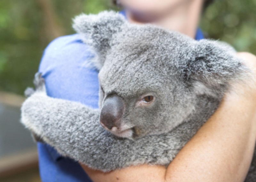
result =
[[[196,40],[203,39],[200,29]],[[53,40],[45,49],[39,71],[43,73],[50,97],[78,101],[98,107],[98,71],[87,68],[91,53],[80,35],[68,35]],[[43,182],[89,182],[82,167],[74,160],[62,157],[51,146],[38,143],[39,169]]]

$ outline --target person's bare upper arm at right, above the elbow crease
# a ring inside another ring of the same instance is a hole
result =
[[[254,113],[249,98],[229,95],[168,166],[165,179],[243,181],[254,151]]]

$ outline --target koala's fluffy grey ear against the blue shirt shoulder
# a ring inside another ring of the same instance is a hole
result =
[[[123,15],[114,11],[103,11],[98,15],[81,14],[73,20],[73,28],[81,34],[85,44],[92,47],[98,59],[95,66],[101,69],[110,48],[112,37],[122,29],[127,21]]]

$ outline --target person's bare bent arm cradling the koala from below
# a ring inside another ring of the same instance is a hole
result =
[[[238,53],[254,71],[256,57]],[[255,71],[253,72],[255,75]],[[251,87],[246,84],[250,84]],[[256,139],[255,82],[233,85],[219,109],[167,168],[140,165],[103,173],[83,168],[93,181],[244,181]]]

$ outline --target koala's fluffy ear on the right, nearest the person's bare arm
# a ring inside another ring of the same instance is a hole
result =
[[[196,41],[184,58],[180,70],[201,94],[216,95],[213,92],[221,92],[220,88],[223,91],[228,84],[242,80],[249,71],[235,49],[220,41]]]

